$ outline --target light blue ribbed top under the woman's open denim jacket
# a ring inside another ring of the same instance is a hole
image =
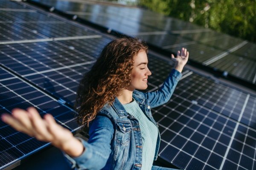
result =
[[[128,113],[139,121],[142,136],[141,170],[151,170],[157,145],[157,126],[143,113],[135,99],[133,99],[133,102],[123,106]]]

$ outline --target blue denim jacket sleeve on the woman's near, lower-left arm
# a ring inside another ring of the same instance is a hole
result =
[[[77,138],[84,145],[84,152],[78,157],[70,157],[66,153],[62,153],[71,168],[101,170],[105,167],[111,153],[113,134],[114,125],[112,121],[107,116],[98,115],[90,127],[88,142]]]

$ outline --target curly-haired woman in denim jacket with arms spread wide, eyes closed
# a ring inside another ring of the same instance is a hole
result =
[[[158,91],[142,93],[135,89],[148,86],[147,52],[148,46],[137,38],[113,40],[84,74],[75,108],[77,121],[89,131],[88,142],[75,138],[50,114],[41,119],[35,108],[16,108],[2,120],[38,140],[52,142],[79,170],[171,170],[152,166],[160,133],[151,108],[169,101],[189,52],[182,48],[177,57],[171,56],[174,69]]]

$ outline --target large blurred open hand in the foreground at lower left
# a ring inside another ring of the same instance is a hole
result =
[[[27,108],[26,111],[15,108],[12,110],[12,115],[3,114],[1,119],[31,137],[44,142],[52,142],[52,145],[70,156],[79,156],[84,150],[82,143],[74,138],[69,130],[58,125],[52,115],[45,114],[42,119],[35,108]]]

